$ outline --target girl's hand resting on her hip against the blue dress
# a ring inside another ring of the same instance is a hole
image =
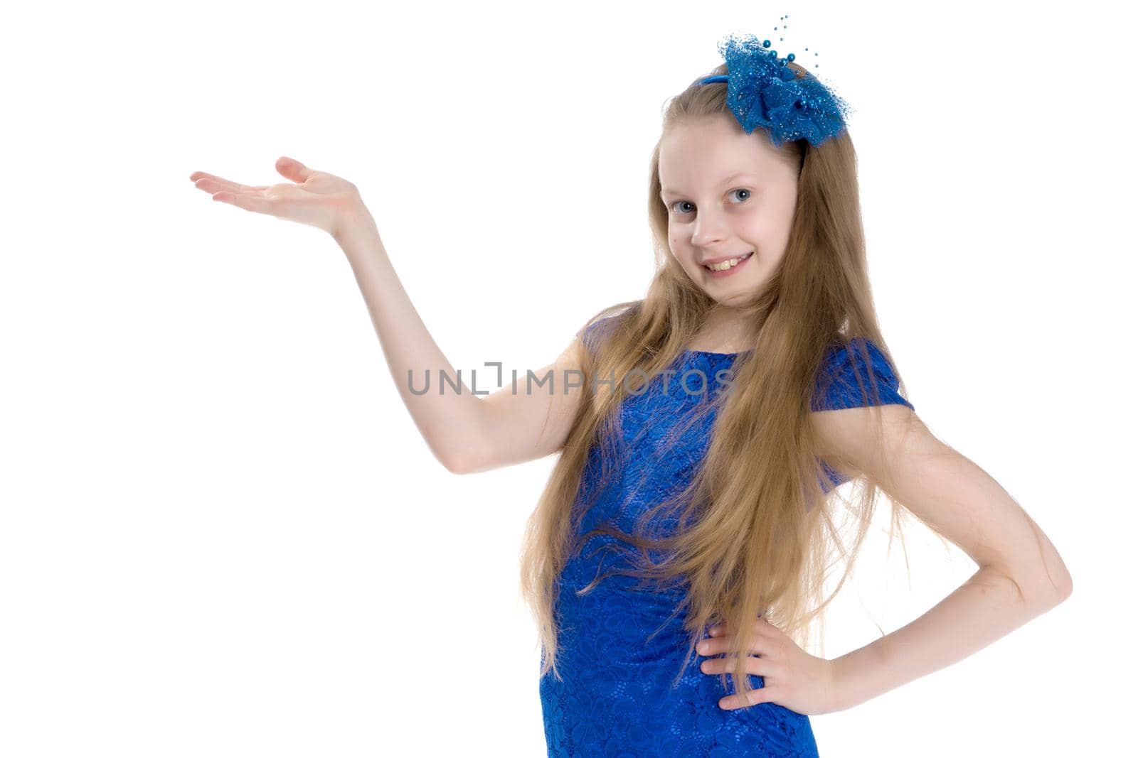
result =
[[[729,650],[734,638],[725,634],[723,624],[716,624],[708,632],[711,638],[702,640],[695,648],[696,652],[710,656]],[[806,652],[782,630],[761,618],[756,619],[751,642],[744,650],[761,656],[748,656],[747,672],[761,676],[762,686],[745,697],[736,692],[723,698],[719,700],[720,708],[734,710],[774,702],[807,716],[836,710],[832,661]],[[700,670],[704,674],[729,673],[734,663],[734,657],[709,658],[700,664]]]

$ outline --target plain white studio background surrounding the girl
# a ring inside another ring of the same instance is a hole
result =
[[[1136,673],[1119,7],[6,11],[0,755],[544,755],[518,549],[554,459],[448,474],[333,240],[189,176],[283,182],[287,155],[349,178],[452,364],[525,372],[643,297],[661,107],[732,31],[785,36],[780,55],[856,108],[909,398],[1075,588],[955,666],[814,717],[822,755],[1116,755]],[[912,586],[866,548],[833,655],[971,573],[920,538]]]

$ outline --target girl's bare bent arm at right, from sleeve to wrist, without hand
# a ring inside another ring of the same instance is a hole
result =
[[[1055,547],[982,468],[938,440],[910,409],[813,414],[825,457],[865,474],[980,566],[921,617],[834,659],[833,710],[852,707],[984,648],[1071,594]]]

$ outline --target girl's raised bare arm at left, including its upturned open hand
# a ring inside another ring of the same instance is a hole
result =
[[[291,183],[250,186],[205,172],[195,172],[190,180],[214,200],[332,235],[355,273],[399,395],[431,452],[448,470],[486,470],[539,458],[563,445],[583,394],[562,392],[566,372],[579,365],[579,340],[538,372],[542,376],[555,369],[556,393],[514,394],[512,388],[503,388],[480,399],[457,381],[454,367],[419,317],[356,186],[291,158],[279,159],[277,170]],[[409,374],[422,386],[428,370],[436,377],[445,373],[461,390],[446,385],[443,393],[435,389],[412,392]]]

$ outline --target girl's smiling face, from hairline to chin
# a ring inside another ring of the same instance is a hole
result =
[[[671,255],[717,302],[744,305],[786,251],[798,166],[724,114],[671,126],[659,174]]]

